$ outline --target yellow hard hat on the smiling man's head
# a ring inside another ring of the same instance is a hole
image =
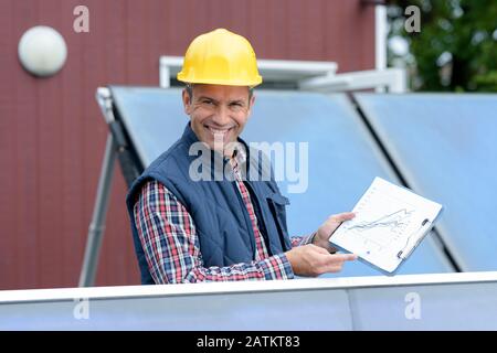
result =
[[[251,43],[224,29],[201,34],[191,42],[177,77],[190,84],[254,87],[262,83]]]

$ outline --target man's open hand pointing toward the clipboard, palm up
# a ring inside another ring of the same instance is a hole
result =
[[[345,261],[357,259],[355,254],[329,254],[328,250],[313,244],[294,247],[285,255],[295,275],[310,277],[339,272]]]

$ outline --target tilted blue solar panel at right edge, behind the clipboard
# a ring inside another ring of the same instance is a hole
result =
[[[444,204],[437,229],[461,268],[497,269],[497,96],[355,97],[408,184]]]

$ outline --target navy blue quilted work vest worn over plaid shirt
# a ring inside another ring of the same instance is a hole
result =
[[[254,231],[231,164],[203,143],[192,146],[194,142],[199,142],[199,139],[188,124],[182,137],[144,171],[126,197],[144,285],[154,284],[154,279],[138,237],[134,205],[141,188],[150,180],[162,183],[189,212],[199,236],[204,267],[224,267],[254,260]],[[285,213],[288,199],[279,193],[265,156],[248,149],[240,138],[239,142],[246,150],[246,163],[242,168],[244,183],[251,194],[258,228],[269,255],[289,250],[292,245]],[[191,147],[194,148],[190,150]],[[198,170],[209,178],[198,180],[199,173],[192,174],[192,168],[194,170],[199,164],[201,168]],[[205,165],[208,169],[204,169]]]

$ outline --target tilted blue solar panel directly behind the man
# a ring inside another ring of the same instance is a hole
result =
[[[112,87],[112,94],[144,165],[181,136],[188,121],[181,90]],[[287,208],[290,235],[310,234],[330,214],[351,210],[374,176],[396,181],[346,95],[257,92],[242,138],[283,149],[286,169],[277,181],[292,203]],[[451,270],[429,238],[400,274]],[[357,261],[347,264],[339,276],[376,274]]]

